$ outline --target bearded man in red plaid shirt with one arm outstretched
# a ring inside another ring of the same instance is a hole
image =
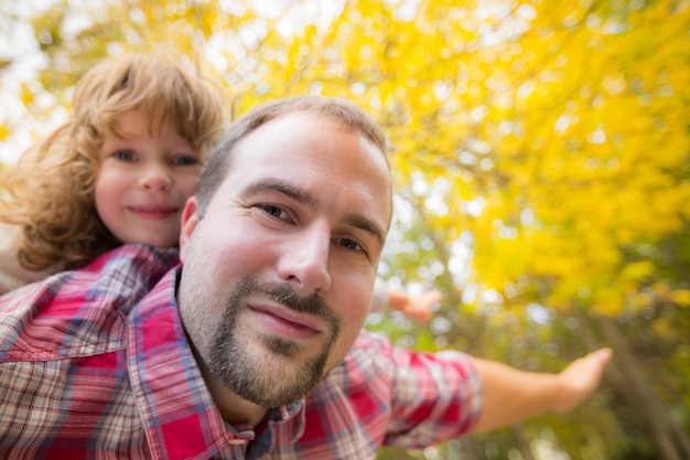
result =
[[[606,350],[530,374],[362,332],[390,216],[366,114],[320,97],[259,106],[187,201],[182,266],[129,245],[3,298],[0,454],[373,459],[596,388]]]

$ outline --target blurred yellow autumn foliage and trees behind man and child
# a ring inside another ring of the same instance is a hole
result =
[[[87,69],[157,49],[230,116],[312,93],[384,126],[380,275],[444,300],[367,328],[533,371],[616,353],[571,414],[379,459],[690,459],[690,1],[3,0],[0,168]]]

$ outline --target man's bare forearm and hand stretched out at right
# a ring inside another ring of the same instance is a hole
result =
[[[573,361],[558,374],[522,372],[475,359],[484,382],[484,405],[476,430],[572,409],[596,391],[612,355],[611,349],[597,350]]]

